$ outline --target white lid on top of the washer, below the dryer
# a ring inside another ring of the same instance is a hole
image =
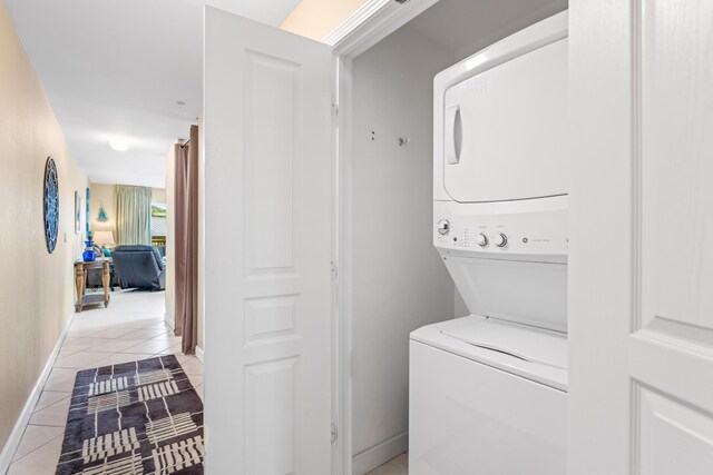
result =
[[[441,329],[441,334],[525,362],[567,369],[567,339],[556,331],[487,318]]]

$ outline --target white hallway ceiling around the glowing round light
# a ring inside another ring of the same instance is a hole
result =
[[[89,180],[164,188],[166,152],[203,107],[203,6],[279,26],[299,0],[4,2]]]

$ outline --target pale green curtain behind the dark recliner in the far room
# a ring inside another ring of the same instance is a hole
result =
[[[152,244],[152,189],[116,187],[116,238],[118,245]]]

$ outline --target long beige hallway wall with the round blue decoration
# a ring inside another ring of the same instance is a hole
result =
[[[0,446],[74,314],[75,190],[85,205],[87,176],[67,148],[3,2],[0,2]],[[42,225],[45,162],[59,176],[59,234],[47,251]],[[82,217],[86,212],[81,214]]]

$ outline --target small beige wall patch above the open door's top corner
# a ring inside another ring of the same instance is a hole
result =
[[[365,0],[302,0],[280,28],[322,41]]]

